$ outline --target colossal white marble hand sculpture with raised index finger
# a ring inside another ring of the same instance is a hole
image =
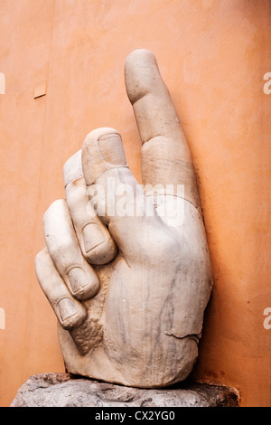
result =
[[[143,184],[117,130],[91,131],[64,165],[66,200],[44,214],[36,274],[70,373],[164,387],[197,359],[210,254],[192,156],[154,54],[132,52],[125,79]]]

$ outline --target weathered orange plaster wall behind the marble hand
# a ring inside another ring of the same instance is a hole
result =
[[[270,2],[0,0],[0,10],[0,405],[29,375],[64,371],[34,274],[42,214],[64,196],[62,165],[95,127],[122,133],[140,180],[123,65],[144,47],[192,149],[215,275],[192,375],[237,388],[242,406],[270,406]],[[33,99],[43,83],[46,96]]]

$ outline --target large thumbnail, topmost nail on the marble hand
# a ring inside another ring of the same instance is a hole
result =
[[[111,165],[126,165],[126,156],[121,137],[117,133],[109,133],[99,137],[100,152],[107,163]]]

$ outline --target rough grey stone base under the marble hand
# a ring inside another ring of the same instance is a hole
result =
[[[180,383],[144,390],[98,382],[69,373],[31,376],[11,407],[237,407],[238,394],[226,387]]]

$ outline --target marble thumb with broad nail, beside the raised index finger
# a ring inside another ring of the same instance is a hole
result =
[[[82,147],[82,168],[90,202],[130,264],[164,222],[128,168],[117,130],[103,127],[89,133]]]

